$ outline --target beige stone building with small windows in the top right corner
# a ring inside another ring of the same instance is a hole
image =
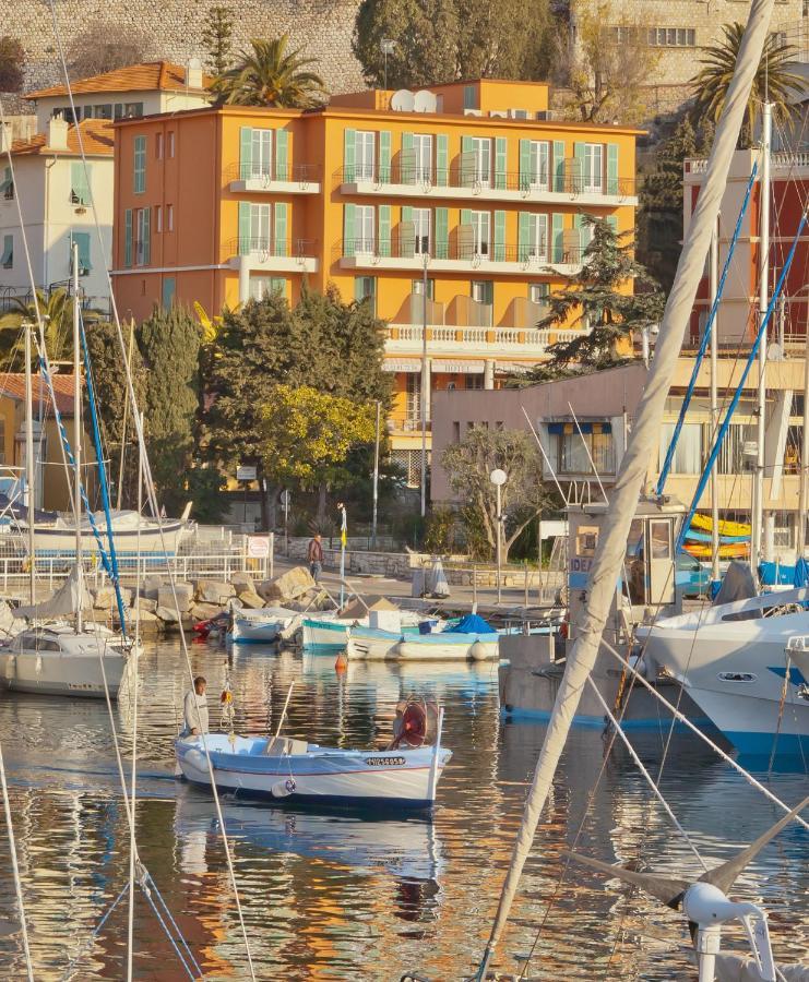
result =
[[[688,81],[700,65],[701,49],[722,36],[722,26],[745,23],[749,4],[740,0],[571,0],[570,43],[575,49],[586,11],[604,12],[607,38],[612,44],[631,43],[633,28],[642,29],[657,55],[654,79],[649,85],[651,115],[676,109],[689,97]],[[776,0],[771,31],[798,48],[809,61],[809,3]]]

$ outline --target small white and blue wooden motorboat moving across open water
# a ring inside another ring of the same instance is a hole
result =
[[[288,736],[209,733],[205,746],[217,789],[289,805],[432,807],[452,752],[441,746],[443,710],[429,745],[428,707],[408,703],[400,733],[386,750],[341,750]],[[182,776],[211,786],[202,736],[175,743]]]

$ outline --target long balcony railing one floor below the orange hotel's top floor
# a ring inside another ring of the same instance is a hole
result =
[[[533,246],[521,243],[519,246],[495,243],[492,241],[475,240],[473,237],[461,232],[450,237],[448,242],[427,243],[426,261],[429,265],[432,260],[449,260],[465,262],[472,266],[481,266],[487,263],[519,263],[526,270],[540,270],[550,265],[579,265],[582,262],[584,250],[569,247],[567,243],[555,244],[543,250],[543,243]],[[352,256],[369,256],[377,260],[412,260],[415,265],[425,262],[425,251],[417,247],[414,236],[392,236],[389,240],[380,240],[376,237],[359,237],[343,239],[332,250],[333,260]]]

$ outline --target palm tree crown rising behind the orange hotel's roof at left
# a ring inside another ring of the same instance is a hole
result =
[[[301,71],[316,59],[300,58],[300,49],[287,51],[289,36],[252,40],[252,52],[242,51],[237,64],[218,75],[212,88],[218,105],[275,106],[311,109],[323,103],[323,80]]]

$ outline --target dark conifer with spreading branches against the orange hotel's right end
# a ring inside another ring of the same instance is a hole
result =
[[[581,327],[572,340],[548,346],[550,361],[538,364],[530,381],[544,382],[574,372],[607,368],[620,360],[621,343],[633,331],[658,324],[665,296],[645,266],[635,262],[632,243],[621,243],[606,218],[584,215],[593,238],[582,255],[582,268],[566,277],[561,290],[548,298],[549,313],[537,327]],[[622,292],[632,283],[634,291]]]

